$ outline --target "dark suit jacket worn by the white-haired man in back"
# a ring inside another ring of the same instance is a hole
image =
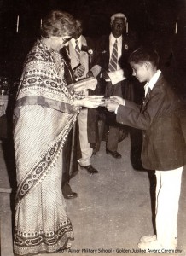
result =
[[[127,79],[119,82],[118,84],[115,84],[114,86],[110,82],[105,82],[105,80],[102,79],[99,88],[101,94],[105,94],[106,97],[116,95],[124,99],[127,99],[131,102],[134,102],[136,87],[135,83],[137,82],[131,76],[132,69],[130,64],[128,63],[128,57],[131,54],[131,52],[136,48],[137,38],[135,38],[132,35],[122,36],[122,55],[119,59],[119,65],[124,70],[125,77],[127,77]],[[109,35],[104,35],[102,36],[102,38],[99,39],[99,41],[97,42],[97,52],[99,55],[99,65],[102,67],[103,70],[108,72],[108,64],[110,59]],[[115,115],[113,113],[110,113],[107,110],[105,110],[105,114],[107,115],[108,125],[119,126],[119,124],[116,122]]]

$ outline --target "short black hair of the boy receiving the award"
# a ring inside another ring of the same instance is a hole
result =
[[[131,53],[129,62],[138,64],[149,61],[154,65],[154,67],[158,67],[159,59],[160,57],[155,49],[141,46]]]

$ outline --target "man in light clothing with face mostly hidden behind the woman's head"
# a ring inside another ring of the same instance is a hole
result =
[[[76,81],[87,77],[96,77],[101,71],[101,67],[97,65],[93,66],[95,57],[93,43],[90,38],[85,38],[82,32],[82,22],[81,20],[77,20],[76,32],[67,47]],[[84,90],[83,94],[95,94],[95,91]],[[90,163],[90,158],[93,153],[91,144],[96,143],[96,133],[98,136],[95,108],[82,108],[80,110],[78,128],[81,151],[81,157],[78,160],[79,166],[87,172],[90,172],[90,174],[97,173],[98,171]]]

